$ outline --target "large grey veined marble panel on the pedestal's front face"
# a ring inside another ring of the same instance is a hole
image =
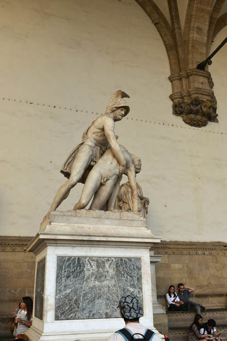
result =
[[[55,320],[120,317],[122,296],[142,307],[140,258],[58,257]]]

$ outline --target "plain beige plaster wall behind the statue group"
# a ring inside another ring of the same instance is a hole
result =
[[[142,159],[149,228],[164,240],[227,241],[222,51],[210,67],[220,124],[197,130],[171,114],[166,51],[135,1],[10,0],[1,17],[2,235],[35,235],[65,181],[63,161],[122,88],[131,112],[116,133]],[[81,189],[59,209],[71,209]]]

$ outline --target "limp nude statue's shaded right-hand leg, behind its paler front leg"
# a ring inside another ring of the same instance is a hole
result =
[[[112,178],[106,181],[105,185],[101,186],[97,190],[89,209],[101,209],[105,205],[114,189],[117,179],[118,176],[114,175]]]

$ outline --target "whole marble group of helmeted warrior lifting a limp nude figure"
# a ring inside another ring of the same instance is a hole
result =
[[[136,173],[141,170],[140,157],[135,156],[121,145],[115,135],[115,122],[121,121],[130,111],[122,90],[110,98],[104,115],[96,118],[82,135],[77,145],[64,162],[61,173],[68,180],[58,189],[51,211],[65,200],[78,182],[84,184],[82,194],[74,210],[86,208],[96,210],[128,210],[141,217],[148,212],[149,199],[144,198]],[[120,186],[122,175],[128,182]]]

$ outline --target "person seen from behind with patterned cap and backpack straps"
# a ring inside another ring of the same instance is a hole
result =
[[[161,341],[157,334],[140,324],[139,319],[143,316],[143,310],[135,297],[131,295],[122,297],[118,307],[125,327],[111,335],[108,341],[131,341],[134,339]]]

